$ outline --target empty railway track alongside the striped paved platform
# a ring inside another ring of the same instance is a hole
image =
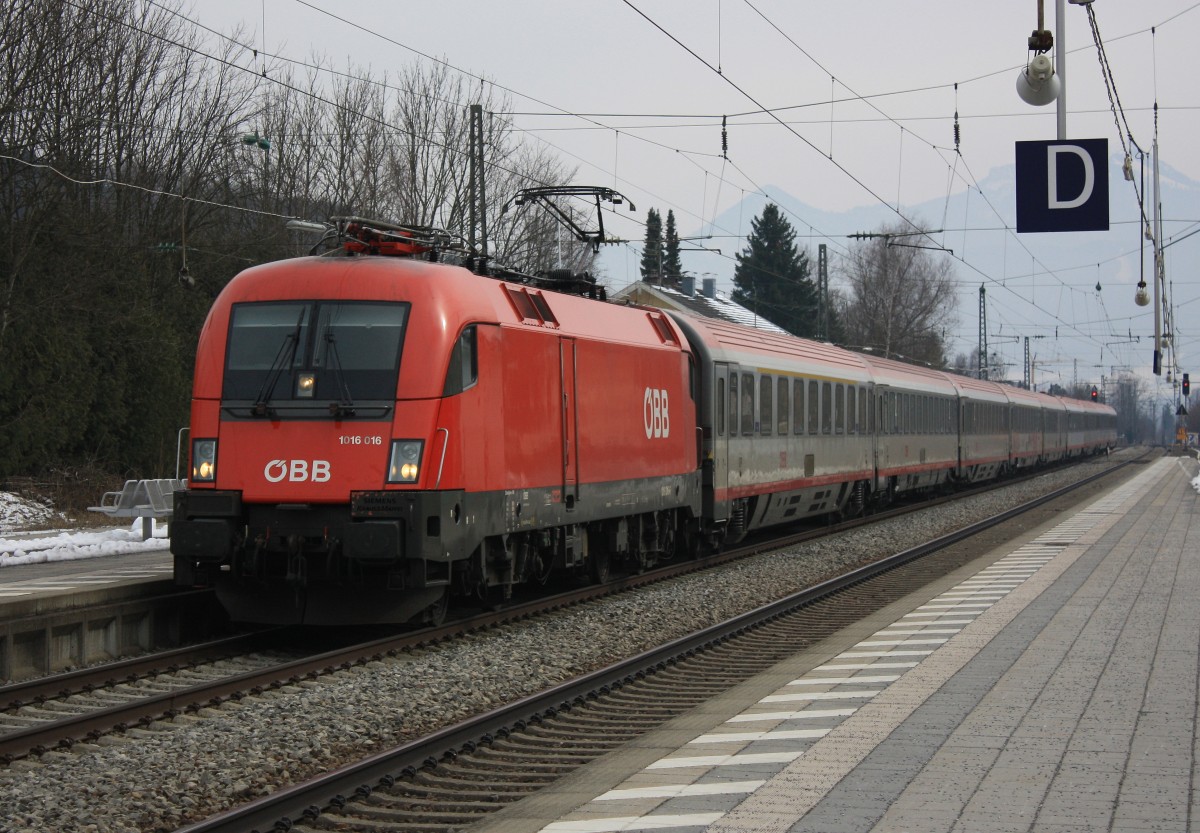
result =
[[[1112,472],[184,831],[462,829],[976,561],[968,539],[1052,517]]]

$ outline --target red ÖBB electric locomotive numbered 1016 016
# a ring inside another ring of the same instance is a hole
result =
[[[670,317],[391,257],[420,253],[400,227],[342,233],[209,313],[179,583],[236,621],[430,621],[691,547],[696,368]]]

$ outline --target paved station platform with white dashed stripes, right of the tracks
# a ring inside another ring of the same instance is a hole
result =
[[[1159,459],[473,831],[1200,828],[1196,475]]]

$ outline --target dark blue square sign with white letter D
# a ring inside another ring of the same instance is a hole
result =
[[[1016,230],[1109,230],[1108,158],[1108,139],[1018,142]]]

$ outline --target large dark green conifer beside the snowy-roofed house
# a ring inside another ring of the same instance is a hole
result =
[[[811,338],[817,329],[817,288],[809,254],[773,203],[750,221],[746,247],[736,256],[733,300],[792,335]]]

